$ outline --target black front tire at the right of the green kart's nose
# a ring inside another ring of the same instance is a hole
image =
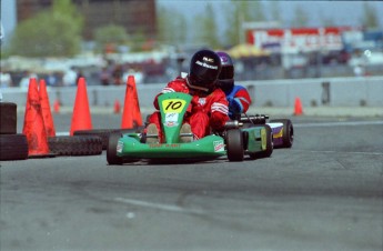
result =
[[[226,151],[229,161],[243,161],[243,135],[240,129],[226,131]]]

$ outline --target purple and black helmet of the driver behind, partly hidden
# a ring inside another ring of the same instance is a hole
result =
[[[234,87],[234,63],[226,52],[218,51],[216,54],[220,57],[222,64],[218,86],[229,94]]]

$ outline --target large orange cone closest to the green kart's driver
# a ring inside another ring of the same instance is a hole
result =
[[[125,101],[122,113],[122,129],[133,129],[142,126],[140,103],[135,89],[134,76],[128,77]]]

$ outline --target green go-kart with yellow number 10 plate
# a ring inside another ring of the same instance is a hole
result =
[[[171,92],[159,96],[161,143],[149,143],[153,137],[142,130],[134,133],[111,133],[107,147],[109,164],[123,164],[141,159],[216,159],[228,157],[229,161],[242,161],[244,154],[251,159],[270,157],[273,150],[271,128],[268,124],[253,124],[240,129],[239,121],[229,121],[225,130],[191,142],[182,142],[188,133],[180,133],[183,117],[192,97]],[[189,133],[190,134],[190,133]],[[157,135],[155,135],[157,137]],[[188,135],[187,135],[188,137]]]

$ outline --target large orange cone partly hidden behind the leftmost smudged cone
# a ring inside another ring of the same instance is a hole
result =
[[[42,119],[44,121],[47,135],[56,137],[53,118],[51,113],[51,106],[49,103],[49,98],[48,98],[48,92],[47,92],[47,84],[43,79],[40,80],[39,94],[40,94],[41,113],[42,113]]]

